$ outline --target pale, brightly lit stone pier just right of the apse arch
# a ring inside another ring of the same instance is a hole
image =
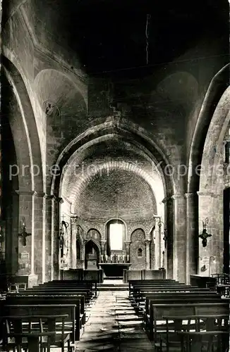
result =
[[[183,195],[171,196],[173,202],[173,277],[186,281],[186,201]]]

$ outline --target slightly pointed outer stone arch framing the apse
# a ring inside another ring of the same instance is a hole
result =
[[[162,203],[164,205],[164,214],[167,213],[167,220],[164,216],[164,221],[167,222],[168,237],[173,238],[174,213],[171,211],[171,203],[169,201],[164,203],[164,200],[171,199],[171,196],[174,196],[177,181],[176,179],[174,180],[174,177],[176,177],[175,175],[169,175],[167,172],[164,172],[165,168],[169,164],[166,156],[167,153],[166,151],[163,152],[159,146],[152,141],[152,137],[142,127],[135,125],[131,121],[124,118],[109,117],[104,123],[100,123],[99,125],[95,125],[94,127],[90,127],[85,130],[85,132],[78,135],[78,137],[73,139],[73,141],[66,146],[56,161],[57,169],[56,174],[52,177],[51,194],[58,197],[60,196],[59,192],[61,189],[61,177],[63,176],[63,170],[66,167],[68,168],[68,163],[71,160],[71,156],[73,156],[75,152],[78,153],[80,148],[84,149],[85,146],[95,144],[95,141],[99,138],[107,138],[107,136],[113,135],[122,137],[124,140],[128,140],[128,142],[133,142],[133,144],[143,150],[157,166],[157,170],[159,175],[161,175],[164,185],[165,198],[162,199]],[[169,268],[169,276],[172,276],[171,268],[173,267],[173,253],[173,246],[168,246],[168,263],[171,263],[171,267]]]

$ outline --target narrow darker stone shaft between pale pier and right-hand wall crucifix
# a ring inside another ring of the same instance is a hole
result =
[[[186,193],[186,284],[190,275],[197,273],[196,258],[198,250],[198,196]]]

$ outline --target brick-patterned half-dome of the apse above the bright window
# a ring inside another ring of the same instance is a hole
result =
[[[147,220],[156,213],[156,202],[142,177],[109,167],[98,170],[78,189],[73,208],[80,218]]]

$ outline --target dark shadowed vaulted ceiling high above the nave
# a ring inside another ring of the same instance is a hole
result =
[[[11,7],[13,13],[19,1],[9,3],[5,6]],[[116,70],[128,69],[129,75],[132,68],[169,63],[197,46],[200,40],[208,43],[211,37],[222,45],[222,54],[227,50],[222,36],[228,31],[226,0],[193,0],[189,4],[183,0],[23,3],[42,45],[75,53],[80,67],[89,74],[115,71],[117,75]],[[208,51],[207,46],[207,55]],[[200,54],[193,55],[198,58]]]

